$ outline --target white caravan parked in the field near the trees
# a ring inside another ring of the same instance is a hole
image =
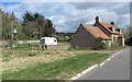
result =
[[[40,43],[44,45],[57,45],[57,39],[55,37],[42,37]]]

